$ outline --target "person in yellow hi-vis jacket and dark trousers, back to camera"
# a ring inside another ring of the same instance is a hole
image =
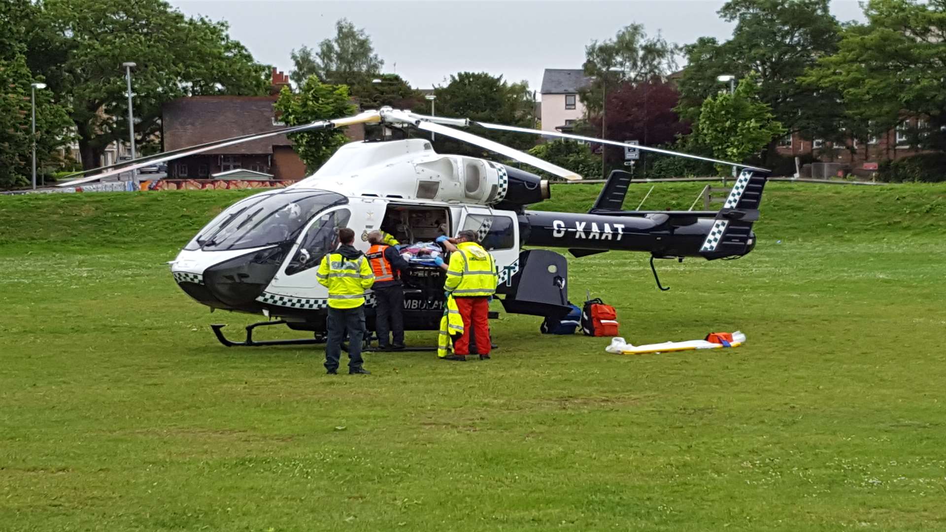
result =
[[[348,373],[370,375],[361,367],[364,337],[364,291],[375,283],[368,259],[352,245],[355,231],[339,229],[339,249],[322,259],[315,275],[328,289],[328,341],[325,343],[325,372],[335,375],[342,358],[342,336],[348,329]]]

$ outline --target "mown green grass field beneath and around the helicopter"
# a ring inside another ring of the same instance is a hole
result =
[[[946,530],[946,186],[770,184],[755,252],[659,261],[668,293],[643,255],[570,261],[628,340],[737,349],[622,357],[503,315],[491,361],[365,378],[220,346],[209,323],[254,316],[175,286],[245,194],[0,197],[0,530]]]

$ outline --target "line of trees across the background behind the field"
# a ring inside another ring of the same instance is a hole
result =
[[[866,21],[845,24],[829,8],[828,0],[731,0],[718,11],[735,23],[723,42],[701,37],[677,45],[637,24],[594,41],[583,65],[590,82],[579,91],[587,112],[575,131],[776,168],[785,163],[777,146],[787,134],[856,151],[900,125],[912,146],[946,150],[946,2],[869,0]],[[382,74],[370,36],[348,20],[290,58],[294,87],[276,103],[288,124],[352,113],[356,105],[429,113],[427,95]],[[111,143],[127,139],[120,66],[126,61],[137,63],[135,135],[144,151],[160,149],[155,133],[171,99],[270,89],[271,67],[233,40],[226,23],[186,17],[163,0],[7,0],[0,4],[0,186],[25,185],[29,175],[33,83],[47,85],[36,92],[41,168],[68,165],[57,149],[73,140],[81,166],[95,168]],[[678,63],[686,66],[678,70]],[[733,91],[720,75],[738,80]],[[429,93],[437,115],[537,125],[526,81],[459,72]],[[617,149],[599,153],[561,141],[535,146],[528,135],[475,133],[583,173],[600,168],[601,156],[613,166],[622,160]],[[343,142],[338,133],[300,133],[294,140],[309,168]],[[440,136],[435,149],[483,154]],[[643,168],[667,175],[712,170],[659,155]]]

